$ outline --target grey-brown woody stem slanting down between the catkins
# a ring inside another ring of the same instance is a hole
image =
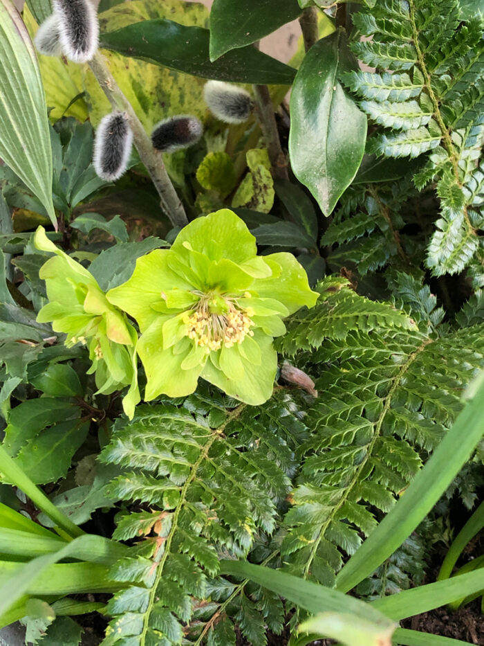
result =
[[[124,96],[115,78],[106,65],[104,56],[97,51],[89,66],[97,82],[102,87],[104,94],[109,99],[113,109],[126,112],[128,115],[129,125],[133,131],[133,140],[136,150],[140,154],[142,163],[145,164],[147,171],[160,195],[161,208],[169,217],[171,224],[174,226],[185,226],[188,224],[185,209],[180,201],[171,180],[168,177],[167,169],[163,163],[161,153],[153,148],[151,140],[145,128],[142,126],[133,106]]]

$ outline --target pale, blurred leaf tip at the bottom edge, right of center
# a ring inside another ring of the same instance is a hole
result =
[[[308,619],[299,631],[337,639],[345,646],[391,646],[391,636],[397,624],[375,622],[349,613],[324,612]]]

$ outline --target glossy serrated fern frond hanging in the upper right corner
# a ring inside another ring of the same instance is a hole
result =
[[[382,0],[354,16],[353,52],[375,71],[344,75],[378,125],[370,150],[420,157],[417,188],[436,180],[440,218],[427,249],[432,273],[469,267],[482,284],[484,39],[481,19],[463,22],[456,0]]]

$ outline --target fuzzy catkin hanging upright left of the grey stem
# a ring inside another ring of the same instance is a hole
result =
[[[126,171],[133,132],[125,112],[111,112],[97,126],[94,141],[94,169],[105,181],[119,179]]]

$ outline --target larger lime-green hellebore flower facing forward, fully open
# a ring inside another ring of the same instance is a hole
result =
[[[203,377],[257,405],[272,394],[282,319],[318,295],[292,254],[258,257],[243,221],[222,209],[185,226],[171,249],[138,258],[106,296],[140,326],[146,400],[189,395]]]

